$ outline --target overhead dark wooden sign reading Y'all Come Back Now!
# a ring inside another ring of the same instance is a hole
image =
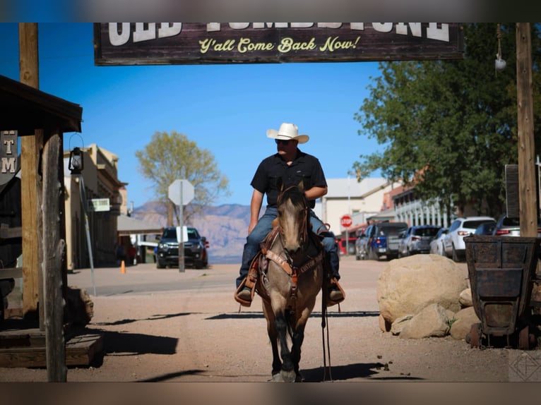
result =
[[[461,59],[460,23],[95,23],[95,64]]]

